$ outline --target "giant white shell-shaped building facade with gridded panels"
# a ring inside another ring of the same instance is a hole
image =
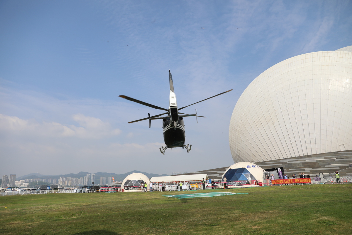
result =
[[[352,46],[275,64],[233,110],[234,162],[261,162],[352,149]]]

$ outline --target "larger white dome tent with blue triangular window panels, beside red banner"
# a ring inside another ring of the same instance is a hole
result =
[[[251,181],[263,180],[264,169],[251,162],[238,162],[226,169],[221,181],[226,177],[233,185],[253,184]]]

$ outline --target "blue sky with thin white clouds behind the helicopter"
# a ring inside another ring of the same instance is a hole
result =
[[[287,58],[352,45],[351,1],[0,1],[1,174],[157,174],[233,164],[244,89]],[[166,150],[168,70],[192,150]]]

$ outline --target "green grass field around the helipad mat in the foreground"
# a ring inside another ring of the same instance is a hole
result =
[[[352,234],[352,184],[0,197],[0,234]],[[194,193],[203,191],[194,191]]]

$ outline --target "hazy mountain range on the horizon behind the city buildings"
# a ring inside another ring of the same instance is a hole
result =
[[[146,172],[142,172],[142,171],[130,171],[124,174],[115,174],[115,173],[106,173],[106,172],[97,172],[94,173],[95,174],[95,183],[99,184],[100,182],[100,177],[114,177],[115,181],[122,181],[126,178],[127,175],[130,175],[132,173],[142,173],[145,174],[146,177],[148,177],[149,179],[154,177],[154,176],[168,176],[167,174],[162,174],[162,175],[158,175],[158,174],[151,174],[151,173],[146,173]],[[20,180],[20,179],[48,179],[48,178],[52,178],[52,179],[58,179],[60,177],[71,177],[71,178],[80,178],[80,177],[85,177],[87,174],[92,174],[89,172],[79,172],[77,174],[74,173],[70,173],[70,174],[65,174],[65,175],[42,175],[39,173],[32,173],[32,174],[28,174],[28,175],[24,175],[21,176],[19,178],[17,178],[16,180]]]

